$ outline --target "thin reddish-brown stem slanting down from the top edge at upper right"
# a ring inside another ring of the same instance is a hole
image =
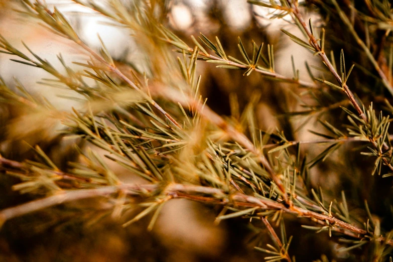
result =
[[[320,47],[320,45],[317,42],[317,39],[314,37],[314,35],[312,34],[312,32],[310,31],[309,27],[307,26],[307,24],[305,23],[305,21],[303,20],[303,17],[300,13],[299,7],[298,7],[298,2],[297,0],[287,0],[287,3],[291,6],[292,9],[292,14],[295,16],[295,18],[299,21],[299,23],[302,25],[303,29],[305,30],[307,36],[309,37],[309,43],[312,47],[315,48],[316,52],[318,52],[319,57],[321,58],[322,62],[327,66],[327,68],[329,69],[329,71],[333,74],[333,76],[336,78],[337,82],[343,87],[345,94],[347,95],[348,99],[351,101],[353,107],[355,107],[356,111],[358,112],[359,116],[363,119],[364,122],[368,122],[367,121],[367,117],[364,114],[363,110],[361,109],[361,107],[359,106],[359,104],[356,102],[355,97],[353,96],[351,90],[349,90],[349,87],[346,84],[343,84],[343,80],[341,79],[341,77],[338,75],[338,73],[336,72],[336,70],[334,69],[333,65],[330,63],[328,57],[326,56],[326,53],[324,52],[324,50],[322,50],[322,48]],[[372,139],[369,139],[370,142],[373,144],[373,146],[375,148],[377,148],[377,144],[375,141],[372,141]],[[383,148],[384,149],[388,149],[388,146],[383,143]],[[389,161],[382,157],[381,158],[383,163],[390,169],[393,171],[393,166],[389,163]]]

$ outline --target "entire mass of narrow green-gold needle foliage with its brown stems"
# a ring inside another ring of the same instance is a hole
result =
[[[239,37],[237,55],[240,58],[235,58],[224,50],[218,37],[213,40],[215,43],[204,34],[201,34],[199,41],[193,36],[190,41],[181,40],[156,17],[156,1],[137,1],[132,10],[114,0],[109,1],[107,8],[93,1],[74,2],[129,29],[145,43],[159,42],[144,49],[151,58],[150,72],[140,72],[130,67],[128,70],[131,73],[126,73],[118,67],[100,38],[101,48],[94,51],[57,9],[51,11],[38,0],[34,3],[23,1],[22,15],[39,20],[45,28],[88,53],[89,58],[83,63],[75,62],[82,68],[75,71],[59,55],[58,60],[63,66],[60,70],[35,54],[27,44],[24,46],[28,54],[16,49],[4,36],[0,37],[0,52],[16,57],[12,60],[24,66],[45,70],[53,78],[43,79],[41,83],[73,90],[73,99],[78,100],[81,106],[79,109],[59,111],[50,101],[29,94],[21,84],[14,92],[1,79],[0,100],[28,108],[32,111],[30,114],[35,113],[38,118],[49,115],[48,121],[60,121],[65,126],[61,130],[61,138],[83,141],[89,147],[77,147],[78,158],[67,163],[65,168],[55,165],[38,145],[32,145],[37,156],[34,160],[20,162],[1,157],[3,175],[20,180],[13,190],[36,198],[1,210],[2,224],[58,204],[104,196],[112,205],[108,212],[118,214],[124,227],[150,217],[148,229],[152,230],[165,203],[184,198],[222,206],[216,222],[244,218],[242,221],[250,226],[266,229],[264,234],[268,233],[266,235],[269,235],[273,245],[265,243],[254,249],[267,254],[265,259],[269,262],[295,261],[291,243],[299,237],[287,237],[284,223],[287,217],[296,221],[298,230],[302,230],[295,231],[299,234],[304,232],[304,228],[307,232],[326,234],[332,242],[340,243],[342,247],[337,252],[345,252],[348,256],[363,252],[363,257],[367,255],[373,261],[384,261],[391,255],[391,223],[382,225],[380,221],[391,221],[391,217],[376,218],[367,202],[360,206],[367,216],[358,216],[353,212],[356,201],[351,200],[349,204],[344,191],[340,190],[341,195],[334,196],[324,185],[313,188],[310,178],[310,173],[322,164],[339,162],[337,155],[348,152],[356,155],[353,157],[356,161],[363,159],[364,155],[365,161],[374,162],[367,175],[377,173],[382,176],[373,179],[385,179],[386,183],[391,183],[389,179],[393,175],[389,135],[389,115],[393,111],[389,102],[392,48],[385,48],[389,50],[385,59],[388,70],[383,71],[370,51],[370,45],[363,42],[347,17],[348,7],[341,7],[335,0],[326,3],[306,1],[303,4],[305,7],[295,0],[281,0],[279,3],[273,0],[248,1],[252,5],[277,10],[272,18],[290,17],[303,33],[302,37],[297,37],[282,30],[299,47],[311,50],[321,60],[322,69],[307,64],[312,77],[312,81],[308,82],[300,80],[300,71],[295,67],[293,57],[293,77],[276,72],[274,48],[270,44],[264,48],[263,43],[257,45],[247,40],[244,43],[250,42],[252,45],[248,50]],[[312,6],[309,2],[316,2],[316,5]],[[365,3],[368,13],[356,11],[355,4],[350,4],[349,8],[367,24],[366,28],[372,25],[384,32],[386,41],[392,46],[389,25],[393,21],[388,1],[367,0]],[[360,82],[352,81],[352,78],[359,77],[357,67],[352,65],[349,70],[346,69],[345,60],[348,62],[350,59],[347,55],[344,57],[344,51],[340,48],[340,67],[337,70],[333,52],[329,52],[331,55],[328,58],[325,51],[332,48],[329,43],[333,41],[331,32],[328,34],[324,28],[316,27],[311,19],[308,24],[305,23],[303,11],[306,7],[338,14],[337,18],[342,20],[353,37],[352,45],[359,45],[356,48],[360,48],[369,61],[372,67],[369,70],[377,72],[377,82],[381,82],[387,90],[386,97],[382,92],[383,104],[370,102],[366,110],[361,102],[359,97],[367,101],[376,100],[373,86],[364,92],[370,94],[367,97],[362,95],[361,88],[356,88],[356,95],[352,93],[354,83]],[[365,41],[368,43],[370,40]],[[188,42],[195,46],[190,47]],[[176,59],[173,56],[176,53],[170,51],[173,47],[180,54]],[[165,70],[157,69],[153,61],[161,61]],[[200,94],[202,76],[197,76],[199,61],[217,64],[217,70],[243,70],[243,76],[255,72],[273,80],[275,84],[285,82],[303,88],[305,91],[299,100],[305,110],[288,112],[287,116],[306,116],[299,128],[316,116],[318,124],[328,134],[310,130],[320,139],[291,141],[287,139],[288,134],[279,129],[273,133],[259,130],[255,116],[258,95],[253,96],[256,98],[249,101],[244,110],[239,108],[236,98],[232,96],[233,115],[218,115],[206,105],[206,99]],[[178,66],[177,70],[175,66]],[[322,76],[314,77],[317,74]],[[168,80],[168,75],[173,78]],[[332,110],[336,110],[332,113],[332,121],[323,119],[323,114]],[[346,117],[340,117],[340,114]],[[361,153],[348,150],[347,144],[351,143],[361,145],[364,150]],[[307,145],[322,145],[323,149],[310,157],[303,152]],[[96,150],[91,149],[93,146]],[[145,182],[123,182],[109,163],[123,167],[130,176],[139,176]],[[343,172],[351,171],[348,167]],[[390,201],[391,190],[388,194],[386,199]],[[390,202],[388,205],[391,207]],[[137,207],[142,211],[129,217],[126,211]],[[275,226],[272,225],[274,223]],[[275,227],[279,227],[279,230]],[[321,259],[319,261],[328,261],[323,254]]]

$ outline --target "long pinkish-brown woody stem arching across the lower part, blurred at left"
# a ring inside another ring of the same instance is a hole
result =
[[[61,193],[46,198],[33,200],[31,202],[21,204],[15,207],[6,208],[0,211],[0,224],[3,224],[7,220],[15,217],[23,216],[25,214],[38,211],[44,208],[56,206],[59,204],[77,201],[87,198],[94,197],[105,197],[114,194],[118,191],[122,191],[127,195],[148,195],[153,191],[162,188],[162,184],[121,184],[118,186],[104,186],[94,189],[78,189],[70,191],[62,191]],[[348,224],[340,219],[333,216],[320,214],[314,211],[302,209],[299,207],[286,207],[284,204],[276,201],[257,198],[242,193],[228,194],[223,190],[212,187],[184,185],[184,184],[169,184],[163,190],[162,194],[166,196],[172,196],[172,198],[185,198],[194,201],[202,201],[206,203],[217,203],[221,205],[233,205],[233,206],[244,206],[244,207],[260,207],[261,209],[274,209],[282,210],[286,213],[293,214],[296,216],[306,217],[312,221],[329,221],[330,224],[334,224],[343,230],[336,230],[341,233],[347,234],[351,237],[359,239],[365,236],[370,236],[371,233],[364,229],[358,228],[351,224]],[[202,194],[202,196],[201,196]],[[376,241],[385,241],[385,237],[377,236]],[[393,240],[387,240],[386,244],[393,246]]]

